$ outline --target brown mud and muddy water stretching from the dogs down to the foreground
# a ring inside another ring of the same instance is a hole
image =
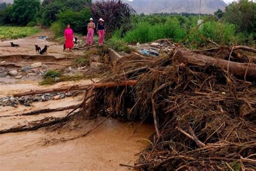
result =
[[[51,37],[49,31],[43,31],[32,37],[12,40],[20,47],[10,47],[10,40],[0,42],[1,67],[21,69],[35,62],[42,62],[49,69],[68,68],[73,65],[75,56],[83,52],[63,52],[63,45],[39,36]],[[35,46],[38,44],[49,46],[48,55],[36,55]],[[28,58],[28,56],[30,56]],[[31,57],[32,56],[32,57]],[[78,72],[78,71],[76,71]],[[91,80],[59,82],[52,86],[38,86],[42,76],[21,72],[22,78],[0,78],[0,97],[11,96],[17,92],[42,88],[58,88],[76,84],[88,84]],[[15,126],[25,126],[48,117],[64,117],[72,109],[40,113],[39,115],[24,116],[23,113],[41,109],[56,109],[77,105],[83,101],[83,93],[63,99],[45,102],[33,102],[31,106],[3,106],[0,105],[0,130]],[[77,127],[67,126],[57,130],[42,128],[37,131],[0,134],[0,170],[126,170],[120,163],[133,165],[139,153],[147,145],[143,140],[150,136],[153,127],[140,126],[139,123],[121,123],[115,119],[108,119],[86,137],[75,140],[62,141],[91,130],[104,118],[85,120]]]

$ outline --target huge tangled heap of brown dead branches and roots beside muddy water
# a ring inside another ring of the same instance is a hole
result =
[[[255,170],[256,64],[253,51],[248,55],[244,50],[248,49],[218,47],[192,52],[175,47],[159,58],[127,55],[114,62],[102,80],[84,86],[84,102],[64,118],[46,118],[46,122],[0,133],[66,126],[97,116],[140,120],[152,122],[156,133],[134,166],[122,166]],[[70,90],[76,88],[62,89]]]

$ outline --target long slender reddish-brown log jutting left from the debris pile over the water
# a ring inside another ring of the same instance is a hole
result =
[[[14,97],[21,97],[21,96],[29,96],[29,95],[37,95],[37,94],[46,94],[52,92],[68,92],[73,90],[86,90],[90,87],[94,88],[112,88],[112,87],[123,87],[123,86],[135,86],[137,80],[129,80],[129,81],[122,81],[122,82],[104,82],[104,83],[93,83],[93,84],[86,84],[86,85],[75,85],[75,86],[65,86],[61,88],[53,88],[53,89],[39,89],[39,90],[30,90],[25,92],[19,92],[14,94]]]

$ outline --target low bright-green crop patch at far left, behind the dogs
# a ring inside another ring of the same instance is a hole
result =
[[[0,26],[0,39],[18,39],[38,33],[35,27]]]

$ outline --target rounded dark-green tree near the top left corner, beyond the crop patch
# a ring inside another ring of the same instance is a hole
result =
[[[11,23],[26,25],[36,19],[39,9],[39,0],[14,0],[14,3],[7,7],[7,12]]]

